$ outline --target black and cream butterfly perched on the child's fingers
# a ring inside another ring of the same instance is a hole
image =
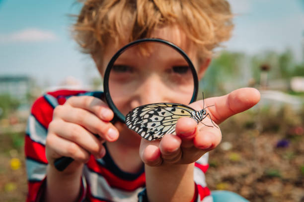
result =
[[[199,124],[200,122],[202,123],[204,118],[209,116],[213,123],[210,114],[206,111],[207,107],[196,111],[187,105],[179,103],[146,104],[134,108],[127,114],[126,125],[146,140],[158,140],[165,134],[174,134],[176,122],[181,117],[193,118]],[[213,125],[216,126],[214,123]]]

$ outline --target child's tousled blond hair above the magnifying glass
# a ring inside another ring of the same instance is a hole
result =
[[[82,0],[73,26],[85,53],[101,55],[115,44],[151,37],[155,28],[177,25],[199,48],[199,59],[230,38],[232,14],[227,0]]]

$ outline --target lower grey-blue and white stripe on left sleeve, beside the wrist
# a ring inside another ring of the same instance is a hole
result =
[[[31,159],[26,159],[25,164],[26,164],[26,173],[28,180],[41,181],[44,179],[46,174],[47,164],[39,163]]]

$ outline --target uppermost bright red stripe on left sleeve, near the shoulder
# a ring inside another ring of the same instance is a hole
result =
[[[31,112],[39,123],[48,128],[49,123],[53,119],[53,107],[44,97],[40,97],[34,102]]]

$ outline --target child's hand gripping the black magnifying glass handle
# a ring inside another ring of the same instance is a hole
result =
[[[65,172],[75,172],[89,160],[90,154],[101,158],[105,154],[104,141],[118,139],[118,130],[109,121],[113,112],[100,99],[91,96],[69,98],[54,109],[48,127],[46,157],[49,165],[67,156],[75,159]],[[96,135],[94,135],[96,134]]]

